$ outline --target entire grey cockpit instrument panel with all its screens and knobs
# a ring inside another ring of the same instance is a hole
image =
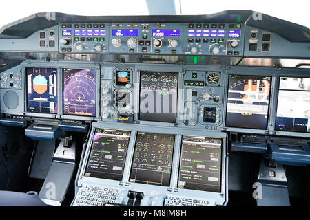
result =
[[[72,206],[225,206],[234,149],[310,164],[271,141],[310,137],[309,28],[236,13],[9,25],[0,124],[86,134]]]

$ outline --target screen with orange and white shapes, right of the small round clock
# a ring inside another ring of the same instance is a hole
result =
[[[267,129],[271,77],[229,75],[226,126]]]

